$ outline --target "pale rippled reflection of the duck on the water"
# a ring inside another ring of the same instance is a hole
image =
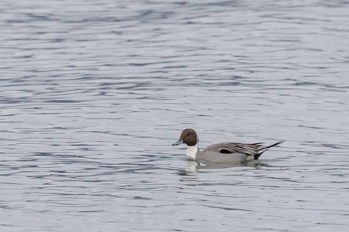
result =
[[[207,173],[209,169],[222,169],[222,168],[234,168],[237,167],[238,170],[241,170],[239,167],[251,169],[259,168],[262,166],[261,163],[256,162],[244,162],[244,163],[211,163],[203,161],[187,161],[187,165],[184,170],[178,171],[178,175],[181,176],[180,181],[184,182],[194,182],[193,185],[196,185],[195,182],[199,180],[197,173]]]

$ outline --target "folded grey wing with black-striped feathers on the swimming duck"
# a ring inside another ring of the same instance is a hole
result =
[[[219,153],[232,154],[239,153],[244,155],[257,155],[261,150],[259,147],[263,143],[217,143],[206,147],[203,151],[215,151]]]

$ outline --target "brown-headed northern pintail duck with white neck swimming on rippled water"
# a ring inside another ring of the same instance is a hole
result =
[[[218,163],[238,163],[245,160],[257,160],[270,147],[284,142],[280,141],[266,147],[260,147],[262,143],[217,143],[200,151],[198,141],[199,137],[195,130],[185,129],[182,131],[179,140],[172,146],[182,143],[187,144],[186,157],[189,159]]]

